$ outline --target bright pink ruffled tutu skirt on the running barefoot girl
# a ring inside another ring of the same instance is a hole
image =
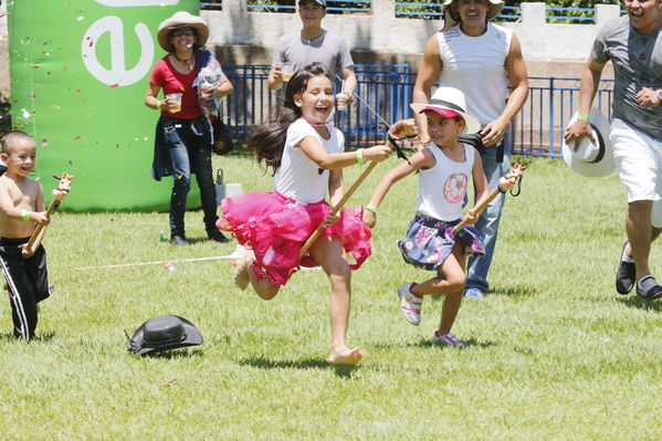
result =
[[[301,248],[330,213],[326,201],[300,203],[277,192],[252,192],[221,201],[219,230],[230,231],[246,248],[253,249],[251,269],[272,285],[284,285],[300,266],[317,266],[311,253],[298,258]],[[362,207],[340,210],[340,220],[322,234],[338,238],[358,270],[370,256],[370,229],[362,222]]]

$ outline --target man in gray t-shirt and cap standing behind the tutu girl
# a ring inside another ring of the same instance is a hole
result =
[[[291,64],[296,71],[319,62],[332,75],[340,72],[344,80],[341,92],[347,96],[347,103],[350,103],[356,88],[354,61],[345,40],[322,29],[322,19],[326,17],[326,0],[298,0],[298,15],[303,29],[287,33],[276,42],[269,87],[279,90],[283,86],[284,63]]]

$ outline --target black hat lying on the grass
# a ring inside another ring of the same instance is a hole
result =
[[[178,315],[159,315],[150,318],[126,340],[128,351],[138,355],[201,344],[202,334],[198,328]]]

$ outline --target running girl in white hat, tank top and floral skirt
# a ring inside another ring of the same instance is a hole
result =
[[[473,178],[479,206],[487,195],[487,179],[483,172],[481,156],[474,147],[458,140],[461,133],[476,133],[479,120],[467,115],[464,94],[453,87],[437,90],[429,104],[412,104],[414,112],[425,114],[432,140],[427,147],[389,171],[379,182],[370,203],[366,206],[364,220],[375,227],[377,208],[391,186],[419,170],[418,210],[409,224],[407,238],[398,245],[409,264],[429,271],[437,276],[421,283],[406,283],[398,287],[400,309],[412,325],[421,322],[421,305],[428,294],[445,294],[439,329],[432,336],[435,345],[462,347],[464,344],[451,334],[451,327],[460,309],[466,281],[464,260],[466,255],[483,255],[481,233],[473,227],[477,217],[469,210],[467,227],[453,234],[453,227],[462,218],[462,202],[469,179]]]

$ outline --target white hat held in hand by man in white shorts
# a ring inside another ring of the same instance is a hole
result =
[[[570,118],[568,127],[577,120],[576,113]],[[591,108],[589,114],[591,137],[584,137],[566,144],[561,144],[564,160],[572,170],[579,175],[597,178],[607,176],[616,168],[613,160],[613,146],[609,138],[610,124],[600,111]]]

